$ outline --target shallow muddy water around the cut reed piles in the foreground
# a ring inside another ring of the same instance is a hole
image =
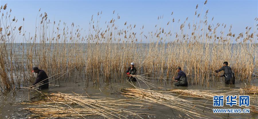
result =
[[[121,82],[119,83],[112,83],[112,84],[107,84],[107,83],[100,83],[99,86],[94,86],[92,81],[89,81],[88,87],[86,87],[85,81],[83,80],[78,80],[77,82],[69,82],[69,81],[54,81],[50,82],[49,89],[46,90],[40,90],[44,93],[67,93],[67,94],[72,94],[72,93],[77,93],[77,94],[95,94],[95,96],[102,96],[102,97],[110,97],[110,98],[116,98],[116,99],[130,99],[122,94],[120,94],[120,88],[119,86],[124,86],[124,87],[129,87],[129,88],[134,88],[131,84],[126,82],[126,79],[120,79]],[[51,81],[51,80],[50,80]],[[209,86],[203,86],[200,84],[193,85],[193,84],[188,84],[187,87],[176,87],[173,84],[171,84],[171,79],[163,82],[163,84],[160,84],[159,79],[150,79],[148,82],[154,84],[155,87],[162,87],[162,89],[154,89],[154,90],[166,90],[166,89],[196,89],[196,90],[214,90],[220,88],[220,90],[230,90],[230,89],[238,89],[245,87],[245,82],[239,82],[238,80],[236,81],[236,84],[229,86],[224,84],[224,80],[220,78],[220,82],[210,82]],[[148,89],[148,86],[144,84],[143,82],[133,82],[133,84],[137,87],[141,87],[143,89]],[[252,80],[250,84],[246,85],[254,85],[257,86],[258,82],[257,79]],[[60,85],[60,86],[56,86]],[[151,87],[150,87],[151,88]],[[9,119],[24,119],[28,118],[30,114],[26,110],[22,110],[22,108],[28,107],[28,105],[22,105],[22,104],[17,104],[22,101],[26,100],[32,100],[32,97],[34,96],[36,91],[34,90],[28,90],[25,88],[19,88],[16,91],[16,95],[13,95],[12,92],[10,92],[9,95],[6,97],[2,95],[4,98],[1,98],[0,102],[0,119],[4,118],[9,118]],[[30,96],[30,97],[28,97]],[[191,98],[191,97],[183,97],[187,100],[198,100],[196,98]],[[256,98],[257,100],[258,98]],[[210,100],[212,103],[212,100]],[[148,109],[142,110],[142,112],[147,113],[146,115],[141,116],[144,119],[177,119],[177,118],[187,118],[185,114],[183,114],[180,111],[177,111],[173,108],[169,108],[167,106],[157,104],[157,103],[152,103],[153,106]],[[212,108],[212,107],[211,107]],[[151,114],[151,115],[148,115]],[[204,110],[202,112],[203,115],[208,116],[210,118],[223,118],[223,119],[228,119],[228,118],[240,118],[240,119],[254,119],[258,118],[258,114],[251,115],[250,114],[214,114],[212,110]],[[180,116],[179,116],[180,115]],[[130,116],[126,115],[127,118],[139,118],[135,116]],[[78,117],[79,118],[79,117]],[[103,118],[102,116],[87,116],[86,118]]]

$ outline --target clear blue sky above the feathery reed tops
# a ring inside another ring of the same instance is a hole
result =
[[[199,4],[197,13],[204,14],[209,9],[208,18],[214,17],[213,24],[224,23],[229,27],[232,24],[232,33],[237,35],[245,32],[245,27],[256,26],[258,17],[258,2],[254,1],[218,1],[210,0],[204,6],[205,0],[200,1],[5,1],[1,0],[0,5],[7,3],[7,9],[12,9],[11,15],[18,19],[17,26],[22,25],[25,18],[24,29],[27,32],[35,30],[36,16],[41,8],[41,13],[48,13],[48,19],[72,22],[83,29],[88,29],[91,15],[97,16],[97,12],[103,11],[101,22],[110,21],[112,17],[120,15],[118,21],[121,26],[127,21],[128,24],[136,24],[138,31],[144,25],[144,32],[155,31],[154,26],[165,26],[168,21],[175,18],[180,23],[189,17],[193,21],[195,7]],[[113,11],[115,14],[113,16]],[[173,15],[171,16],[171,12]],[[157,17],[164,15],[162,20]],[[176,26],[175,26],[176,27]],[[177,26],[179,29],[179,26]],[[137,30],[136,30],[137,31]]]

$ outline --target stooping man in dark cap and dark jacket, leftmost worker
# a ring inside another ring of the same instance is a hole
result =
[[[36,81],[33,85],[40,84],[39,89],[47,89],[48,88],[48,76],[44,70],[38,69],[38,67],[33,67],[32,72],[37,73]]]

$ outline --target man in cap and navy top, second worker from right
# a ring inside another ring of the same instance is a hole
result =
[[[177,67],[176,70],[178,72],[177,77],[173,77],[176,81],[175,86],[187,86],[188,83],[185,72],[181,70],[181,67]]]

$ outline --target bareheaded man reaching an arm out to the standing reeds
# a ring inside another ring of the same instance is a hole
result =
[[[220,77],[225,77],[226,84],[235,84],[235,75],[231,68],[228,66],[228,62],[223,62],[223,66],[219,70],[215,70],[216,73],[224,70],[224,74]]]

